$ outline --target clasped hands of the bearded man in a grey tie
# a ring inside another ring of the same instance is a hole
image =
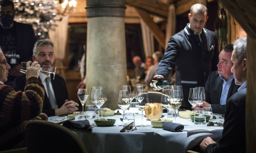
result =
[[[69,114],[78,110],[79,104],[73,100],[65,100],[65,103],[59,109],[55,109],[55,115]]]

